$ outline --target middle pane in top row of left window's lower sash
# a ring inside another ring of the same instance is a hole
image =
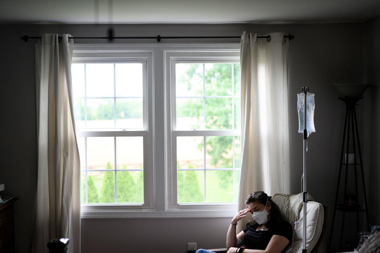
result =
[[[114,137],[87,137],[87,169],[114,169]]]

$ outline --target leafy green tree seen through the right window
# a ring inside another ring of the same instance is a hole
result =
[[[191,64],[187,71],[179,77],[179,82],[185,83],[187,89],[192,89],[191,80],[198,75],[198,79],[203,78],[203,71],[196,71],[201,64]],[[212,67],[210,67],[212,66]],[[234,76],[232,76],[232,68]],[[206,96],[226,96],[240,94],[240,67],[239,64],[209,64],[204,75],[205,94]],[[232,80],[234,81],[234,91],[232,90]],[[197,95],[202,96],[203,90],[198,90]],[[206,98],[205,100],[205,122],[206,129],[237,129],[240,126],[240,101],[236,99],[234,103],[234,120],[232,121],[232,99],[230,98]],[[177,108],[178,117],[194,117],[203,116],[203,101],[201,99],[189,99],[185,104]],[[191,127],[199,128],[196,124]],[[231,136],[210,136],[206,137],[206,152],[211,156],[211,165],[219,168],[232,168],[232,138]],[[203,142],[198,144],[198,149],[203,149]],[[239,151],[238,151],[239,153]],[[238,164],[240,159],[238,159]],[[217,171],[220,179],[220,187],[226,189],[232,182],[232,171]]]

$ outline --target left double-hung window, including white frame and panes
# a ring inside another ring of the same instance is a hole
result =
[[[82,212],[152,209],[152,52],[74,51]]]

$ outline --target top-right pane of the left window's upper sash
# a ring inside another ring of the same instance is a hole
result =
[[[142,97],[142,64],[115,64],[116,96]]]

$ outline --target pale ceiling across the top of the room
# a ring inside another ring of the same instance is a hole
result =
[[[0,0],[2,24],[331,23],[378,15],[380,0]]]

